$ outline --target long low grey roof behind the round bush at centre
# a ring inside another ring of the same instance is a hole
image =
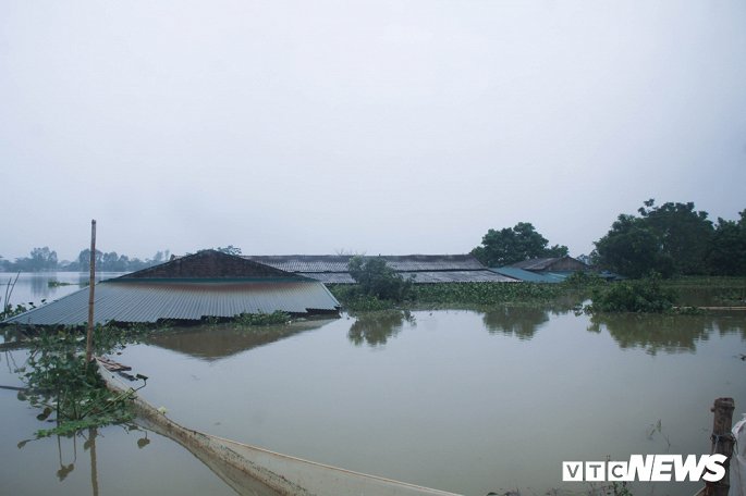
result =
[[[355,284],[355,280],[347,270],[352,258],[350,255],[246,256],[244,258],[325,284]],[[380,258],[403,277],[412,276],[415,284],[516,282],[515,278],[490,271],[472,255],[388,255]]]

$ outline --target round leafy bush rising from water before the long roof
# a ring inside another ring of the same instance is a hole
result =
[[[365,296],[402,301],[412,290],[412,280],[402,277],[380,257],[352,257],[347,270]]]

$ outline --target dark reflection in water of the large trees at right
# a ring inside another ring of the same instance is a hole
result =
[[[590,318],[588,331],[607,330],[620,348],[641,348],[648,355],[695,352],[697,345],[710,338],[741,335],[746,339],[744,319],[727,315],[604,314]]]

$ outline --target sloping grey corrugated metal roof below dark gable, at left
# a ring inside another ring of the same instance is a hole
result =
[[[102,282],[96,285],[95,322],[157,322],[161,319],[231,318],[240,313],[333,311],[340,306],[315,281]],[[29,325],[82,325],[88,319],[88,290],[5,320]]]

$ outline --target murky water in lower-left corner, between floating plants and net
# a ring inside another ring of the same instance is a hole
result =
[[[25,350],[0,354],[0,385],[23,386],[15,370]],[[4,362],[4,363],[2,363]],[[201,462],[176,443],[144,430],[108,426],[75,436],[33,439],[48,425],[38,410],[0,388],[0,494],[235,496]]]

